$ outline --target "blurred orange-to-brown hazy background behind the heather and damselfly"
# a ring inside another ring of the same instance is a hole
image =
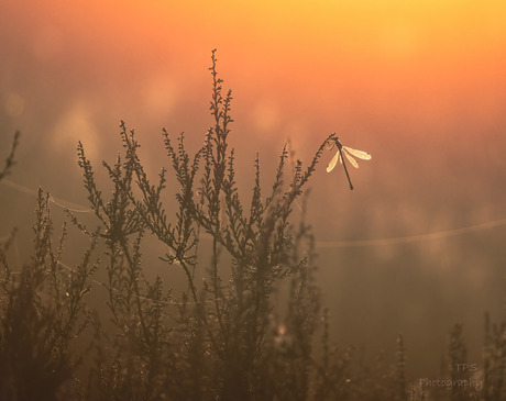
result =
[[[506,31],[499,3],[449,3],[4,2],[0,157],[22,136],[8,177],[20,187],[0,185],[0,237],[18,227],[12,257],[26,260],[35,209],[26,189],[88,208],[77,142],[106,182],[100,163],[121,151],[120,120],[152,174],[168,167],[162,127],[185,132],[197,151],[211,124],[218,47],[246,193],[255,154],[267,190],[287,141],[305,164],[330,132],[372,154],[350,167],[354,191],[340,166],[326,172],[333,152],[310,181],[306,219],[333,341],[394,355],[403,333],[408,372],[427,377],[463,323],[477,361],[484,313],[504,320]],[[53,205],[53,216],[58,227],[63,210]]]

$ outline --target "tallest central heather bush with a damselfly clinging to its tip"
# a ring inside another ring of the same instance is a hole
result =
[[[153,183],[139,156],[141,145],[123,122],[124,156],[114,165],[103,163],[112,185],[108,199],[79,143],[79,166],[100,229],[90,232],[70,218],[107,249],[102,266],[113,330],[101,334],[108,352],[100,352],[90,385],[90,393],[100,389],[102,399],[306,399],[309,393],[319,297],[312,236],[304,219],[298,226],[292,223],[292,212],[324,142],[307,168],[297,161],[288,179],[285,146],[265,198],[256,156],[245,204],[228,141],[232,96],[223,94],[216,62],[213,53],[213,124],[202,147],[191,157],[183,134],[173,140],[163,131],[178,185],[175,212],[165,207],[168,171],[162,169]],[[198,264],[202,234],[211,238],[204,269]],[[145,278],[144,237],[163,244],[161,260],[184,271],[187,290],[180,297],[172,297],[160,277],[152,283]],[[288,312],[278,320],[272,296],[286,280]]]

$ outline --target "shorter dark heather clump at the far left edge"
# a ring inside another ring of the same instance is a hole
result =
[[[12,165],[13,152],[4,172]],[[64,265],[66,236],[64,225],[53,243],[50,196],[38,189],[30,261],[14,272],[7,257],[12,237],[0,248],[2,400],[54,400],[78,387],[72,372],[80,358],[73,345],[89,323],[85,297],[97,265],[91,261],[94,243],[78,266]]]

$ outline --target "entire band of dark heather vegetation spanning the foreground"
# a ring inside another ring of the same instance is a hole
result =
[[[486,320],[480,369],[468,366],[455,325],[441,371],[415,381],[406,378],[402,335],[393,366],[332,344],[314,282],[314,238],[293,213],[324,142],[306,167],[287,166],[284,148],[267,187],[256,157],[252,191],[240,193],[228,141],[232,97],[215,54],[210,70],[212,126],[195,155],[183,135],[163,132],[170,171],[151,177],[121,123],[122,155],[103,163],[109,182],[100,185],[79,144],[99,225],[67,210],[69,229],[89,238],[79,264],[64,263],[67,225],[55,233],[42,189],[30,263],[11,269],[14,232],[0,244],[0,400],[505,400],[505,324]],[[18,136],[0,180],[14,165]],[[177,187],[167,185],[169,172]],[[157,241],[161,263],[184,274],[183,291],[147,277],[145,241]],[[280,291],[283,304],[273,301]],[[91,307],[103,292],[105,304]]]

